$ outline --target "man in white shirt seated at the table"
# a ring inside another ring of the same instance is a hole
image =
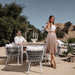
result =
[[[21,31],[17,32],[17,36],[14,38],[15,44],[17,45],[23,45],[27,43],[27,40],[21,36]],[[23,50],[26,50],[26,47],[23,48]]]

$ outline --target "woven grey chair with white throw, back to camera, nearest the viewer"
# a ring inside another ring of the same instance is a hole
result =
[[[44,55],[44,48],[38,46],[31,46],[32,48],[27,47],[26,54],[27,54],[27,59],[28,59],[28,73],[30,72],[30,67],[31,67],[31,62],[39,62],[41,72],[42,70],[42,60],[43,60],[43,55]],[[36,47],[36,49],[35,49]]]

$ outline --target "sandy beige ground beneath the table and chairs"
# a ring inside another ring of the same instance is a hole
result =
[[[40,66],[38,63],[32,63],[30,75],[75,75],[75,62],[64,61],[64,58],[57,60],[57,69],[51,68],[49,64],[46,65],[43,62],[43,74],[40,72]],[[16,61],[13,64],[9,64],[5,67],[6,55],[5,48],[0,47],[0,75],[27,75],[28,63],[24,62],[24,65],[18,65]]]

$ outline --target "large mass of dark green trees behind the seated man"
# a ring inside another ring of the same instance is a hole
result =
[[[5,6],[0,4],[0,46],[13,42],[18,30],[25,36],[28,28],[32,30],[27,33],[27,41],[31,41],[33,31],[39,33],[39,41],[45,38],[39,29],[27,21],[27,16],[21,15],[23,8],[16,3],[6,4]]]

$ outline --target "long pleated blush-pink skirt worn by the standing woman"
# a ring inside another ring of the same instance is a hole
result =
[[[47,53],[56,54],[57,53],[57,37],[56,33],[48,33],[46,44],[47,44]]]

